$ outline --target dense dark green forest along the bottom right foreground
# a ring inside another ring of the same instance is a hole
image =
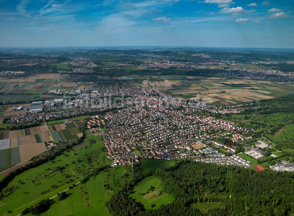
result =
[[[153,175],[175,198],[172,203],[144,210],[128,196],[128,185],[106,203],[111,215],[294,215],[294,173],[257,173],[238,166],[183,160],[171,168],[156,169]],[[197,208],[198,203],[205,209]],[[214,203],[221,208],[210,208]]]

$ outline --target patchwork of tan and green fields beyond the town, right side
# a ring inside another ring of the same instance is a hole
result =
[[[253,80],[172,79],[153,81],[152,85],[184,99],[198,98],[208,102],[223,101],[229,104],[270,99],[294,93],[294,86],[287,83]]]

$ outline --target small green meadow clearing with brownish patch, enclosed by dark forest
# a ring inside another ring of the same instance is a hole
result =
[[[152,190],[150,190],[151,186]],[[154,176],[148,176],[137,183],[130,196],[142,203],[145,209],[151,209],[151,204],[155,204],[153,208],[158,208],[173,201],[172,196],[163,192],[161,181]]]

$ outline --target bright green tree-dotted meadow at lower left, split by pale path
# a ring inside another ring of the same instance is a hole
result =
[[[73,183],[78,183],[94,168],[111,164],[113,160],[107,159],[107,152],[102,151],[103,147],[104,142],[88,144],[76,152],[65,152],[64,155],[56,157],[54,163],[47,162],[16,176],[7,188],[16,185],[18,187],[11,195],[1,200],[3,205],[0,205],[0,215],[6,215],[8,210],[13,210],[14,214],[18,215],[22,210],[41,199],[52,198]],[[89,157],[91,160],[88,159]],[[64,169],[58,171],[57,166],[64,167]],[[124,166],[121,168],[125,169]],[[108,215],[104,203],[111,195],[107,194],[103,186],[108,171],[92,176],[86,183],[69,189],[67,191],[69,197],[65,200],[59,201],[58,197],[54,198],[55,202],[52,203],[49,211],[41,215],[83,216],[97,215],[97,213]],[[109,177],[112,178],[112,176]],[[19,180],[23,183],[19,183]],[[24,191],[26,193],[23,193]],[[111,194],[113,193],[111,191]]]

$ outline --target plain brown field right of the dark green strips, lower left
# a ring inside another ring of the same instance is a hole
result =
[[[25,161],[46,151],[44,143],[21,145],[19,147],[20,160]]]

